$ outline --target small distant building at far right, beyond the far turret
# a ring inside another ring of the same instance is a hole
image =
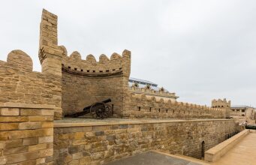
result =
[[[230,114],[233,118],[243,118],[255,120],[255,108],[248,107],[245,105],[231,106],[232,113]]]

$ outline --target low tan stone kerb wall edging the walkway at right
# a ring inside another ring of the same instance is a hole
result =
[[[244,136],[250,133],[250,130],[242,130],[242,132],[236,134],[230,139],[225,140],[224,142],[219,143],[215,147],[210,148],[205,151],[204,160],[209,162],[215,162],[219,160],[227,151],[230,150],[237,142],[239,142]]]

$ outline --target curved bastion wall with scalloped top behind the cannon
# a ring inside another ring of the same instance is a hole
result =
[[[131,52],[113,53],[110,59],[101,55],[97,62],[93,55],[86,60],[79,52],[67,55],[62,49],[62,109],[65,114],[77,113],[95,102],[110,98],[114,114],[121,117],[128,95]]]

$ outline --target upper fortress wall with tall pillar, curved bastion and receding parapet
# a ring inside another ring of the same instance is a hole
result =
[[[57,17],[43,10],[39,58],[43,73],[62,77],[63,115],[80,112],[90,104],[111,98],[115,116],[122,118],[226,117],[221,109],[176,102],[170,104],[162,99],[157,101],[155,97],[145,99],[144,95],[136,98],[128,89],[130,51],[124,50],[122,56],[113,53],[110,59],[101,55],[98,62],[93,55],[87,55],[83,60],[77,51],[68,56],[65,46],[58,46],[57,36]]]

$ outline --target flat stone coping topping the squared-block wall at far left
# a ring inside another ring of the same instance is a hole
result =
[[[19,104],[19,103],[0,103],[0,108],[34,108],[34,109],[56,109],[54,105],[47,104]]]

